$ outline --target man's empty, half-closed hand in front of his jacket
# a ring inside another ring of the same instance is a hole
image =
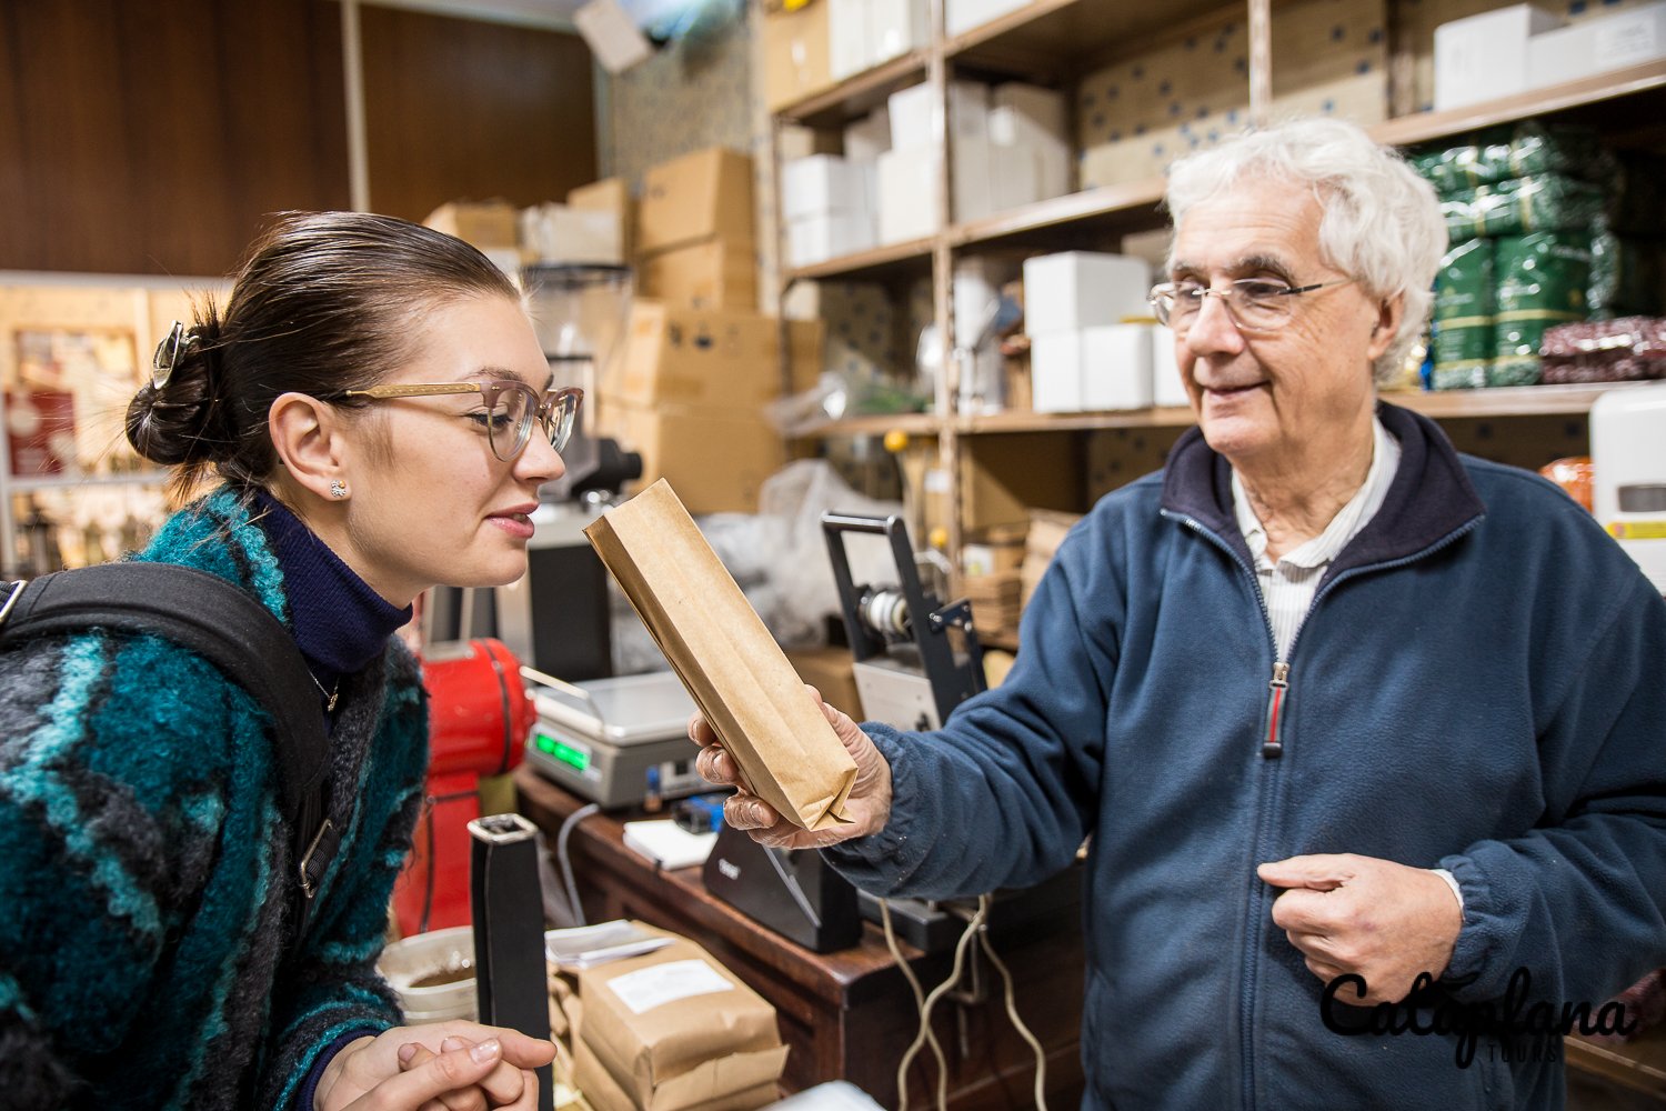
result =
[[[1399,1003],[1418,973],[1439,979],[1451,964],[1463,911],[1433,871],[1343,853],[1291,856],[1256,874],[1286,888],[1273,901],[1273,923],[1308,971],[1326,983],[1363,976],[1361,1004]]]

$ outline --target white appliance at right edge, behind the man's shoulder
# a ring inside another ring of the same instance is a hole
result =
[[[1591,511],[1666,595],[1666,381],[1591,405]]]

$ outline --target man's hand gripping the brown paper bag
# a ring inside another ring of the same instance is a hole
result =
[[[781,818],[773,806],[746,790],[740,765],[718,743],[711,723],[700,713],[688,720],[688,738],[700,745],[695,770],[711,783],[736,790],[735,796],[723,803],[723,821],[736,830],[750,830],[753,841],[770,848],[826,848],[850,838],[878,833],[891,816],[891,765],[885,761],[868,735],[850,720],[850,715],[821,701],[821,693],[816,688],[805,685],[805,690],[821,706],[821,716],[828,720],[833,733],[845,745],[845,751],[856,761],[856,783],[851,785],[845,800],[845,816],[850,818],[850,823],[831,830],[811,833]]]

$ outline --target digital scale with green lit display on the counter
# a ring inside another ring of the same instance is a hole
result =
[[[671,671],[566,683],[523,668],[538,720],[526,763],[573,795],[613,806],[656,808],[710,791],[688,740],[695,701]]]

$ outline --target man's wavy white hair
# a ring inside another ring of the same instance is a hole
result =
[[[1423,331],[1434,300],[1434,275],[1446,253],[1446,222],[1434,188],[1399,153],[1353,123],[1291,120],[1245,132],[1170,167],[1166,200],[1175,227],[1193,205],[1245,178],[1311,188],[1324,208],[1319,222],[1324,260],[1371,296],[1404,295],[1399,331],[1373,368],[1378,385],[1398,378]]]

